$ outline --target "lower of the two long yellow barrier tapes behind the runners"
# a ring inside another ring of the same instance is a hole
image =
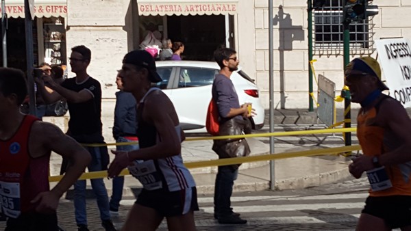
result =
[[[187,168],[198,168],[198,167],[211,167],[211,166],[220,166],[220,165],[236,165],[240,163],[248,163],[248,162],[256,162],[256,161],[273,161],[277,159],[286,159],[286,158],[295,158],[295,157],[310,157],[310,156],[318,156],[318,155],[325,155],[325,154],[337,154],[341,152],[352,152],[356,150],[361,150],[359,145],[356,146],[343,146],[338,148],[322,148],[322,149],[315,149],[315,150],[307,150],[307,151],[299,151],[299,152],[282,152],[278,154],[265,154],[260,156],[253,156],[253,157],[236,157],[236,158],[228,158],[228,159],[218,159],[212,161],[196,161],[196,162],[188,162],[184,163]],[[128,175],[129,171],[127,169],[123,169],[119,176]],[[79,180],[86,180],[86,179],[97,179],[97,178],[106,178],[107,171],[99,171],[99,172],[86,172],[80,176]],[[62,179],[63,176],[49,176],[50,182],[59,181]]]

